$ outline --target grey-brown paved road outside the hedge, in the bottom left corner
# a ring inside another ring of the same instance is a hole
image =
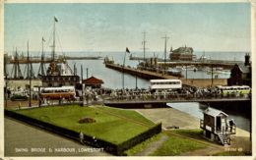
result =
[[[16,120],[5,118],[5,157],[13,156],[111,156],[78,141],[49,133]],[[36,149],[32,152],[32,148]],[[49,148],[52,152],[49,152]],[[57,149],[57,150],[55,150]],[[28,150],[28,152],[27,152]],[[94,152],[92,152],[94,151]]]

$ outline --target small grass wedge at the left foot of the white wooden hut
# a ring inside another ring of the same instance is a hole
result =
[[[168,131],[170,133],[178,133],[184,136],[192,137],[195,139],[205,140],[208,142],[213,142],[211,139],[207,138],[202,129],[194,129],[194,130],[171,130]]]

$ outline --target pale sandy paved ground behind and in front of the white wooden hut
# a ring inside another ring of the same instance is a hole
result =
[[[162,123],[162,128],[179,127],[181,130],[200,129],[200,119],[178,111],[174,108],[136,109],[137,112],[155,123]],[[230,145],[210,145],[203,149],[188,151],[180,156],[208,156],[224,151],[252,152],[250,133],[236,128],[236,134],[230,135]]]

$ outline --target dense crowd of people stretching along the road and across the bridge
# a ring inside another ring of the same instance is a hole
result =
[[[243,94],[237,91],[224,93],[221,90],[210,87],[183,86],[180,89],[109,89],[109,88],[91,88],[87,87],[82,92],[76,93],[75,97],[59,97],[58,103],[72,103],[81,101],[98,101],[102,100],[167,100],[167,99],[197,99],[197,98],[243,98],[250,94]],[[52,99],[40,98],[36,93],[32,93],[33,100],[39,100],[40,105],[50,105]]]

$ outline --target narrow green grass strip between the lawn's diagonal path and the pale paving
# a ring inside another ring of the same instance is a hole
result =
[[[142,116],[141,114],[139,114],[138,112],[136,112],[134,110],[116,109],[116,108],[103,107],[103,106],[96,106],[96,108],[99,108],[99,109],[102,109],[105,111],[109,111],[109,112],[121,115],[123,117],[127,117],[129,119],[145,123],[147,125],[151,125],[151,126],[156,125],[155,123],[153,123],[152,121],[145,118],[144,116]]]

